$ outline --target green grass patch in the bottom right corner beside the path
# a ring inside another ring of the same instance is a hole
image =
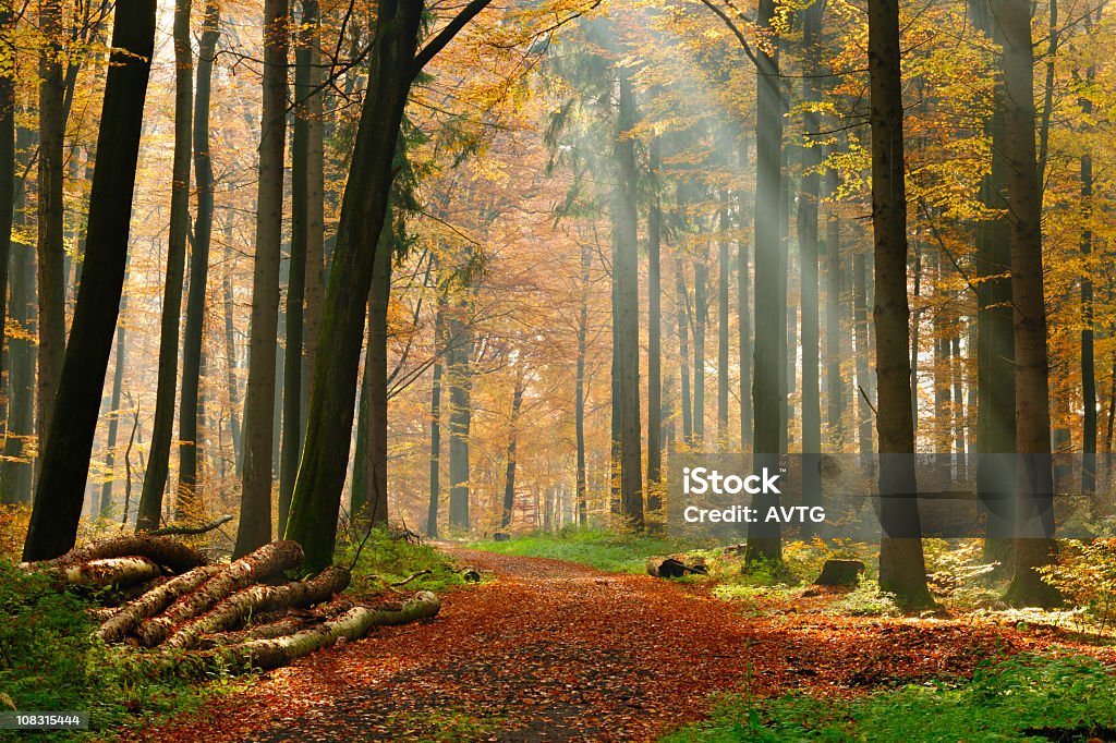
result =
[[[1113,726],[1116,677],[1099,663],[1085,656],[1019,655],[983,666],[972,681],[911,685],[854,699],[729,695],[708,721],[661,743],[1085,741],[1091,735],[1110,740],[1104,728]]]

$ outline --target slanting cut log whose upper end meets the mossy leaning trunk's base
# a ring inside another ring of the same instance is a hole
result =
[[[203,582],[196,590],[180,597],[162,615],[143,621],[136,627],[136,637],[144,647],[155,647],[177,625],[209,611],[233,592],[300,565],[302,548],[298,542],[276,541],[264,544]]]

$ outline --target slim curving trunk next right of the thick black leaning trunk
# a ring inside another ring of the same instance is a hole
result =
[[[163,284],[163,322],[158,341],[158,384],[155,392],[155,423],[147,454],[147,472],[136,513],[136,532],[158,528],[163,492],[171,460],[174,428],[174,398],[179,383],[179,326],[182,320],[182,282],[186,264],[186,234],[190,232],[191,115],[194,97],[194,57],[190,46],[191,0],[174,2],[174,165],[171,174],[171,239],[166,249],[166,281]],[[195,249],[196,253],[196,249]],[[193,268],[193,266],[191,266]],[[191,271],[191,293],[199,277]],[[204,276],[201,286],[205,292]],[[180,512],[189,508],[180,508]]]

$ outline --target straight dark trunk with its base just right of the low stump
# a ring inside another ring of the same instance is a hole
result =
[[[879,587],[908,606],[932,604],[922,552],[907,342],[906,187],[897,0],[868,2],[872,90],[872,223],[876,255],[876,374],[879,414]]]

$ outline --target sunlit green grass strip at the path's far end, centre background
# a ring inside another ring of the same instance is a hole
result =
[[[648,557],[683,552],[696,546],[663,537],[562,529],[557,534],[530,534],[507,542],[478,541],[468,547],[501,554],[579,562],[610,572],[643,573]]]

